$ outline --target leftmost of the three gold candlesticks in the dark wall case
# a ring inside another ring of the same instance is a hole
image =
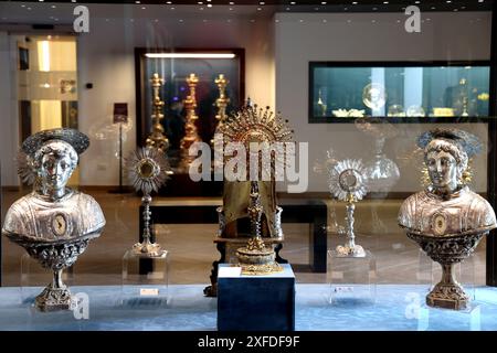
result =
[[[163,119],[163,101],[160,99],[159,89],[163,85],[165,79],[159,74],[154,74],[150,79],[152,86],[152,132],[147,138],[147,147],[152,147],[166,152],[169,147],[169,140],[163,135],[163,127],[160,120]]]

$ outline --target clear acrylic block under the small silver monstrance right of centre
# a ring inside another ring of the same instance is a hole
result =
[[[377,299],[377,259],[366,250],[364,257],[342,256],[328,250],[327,281],[330,304],[340,302],[374,303]]]

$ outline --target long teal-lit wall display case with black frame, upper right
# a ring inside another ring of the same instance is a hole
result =
[[[452,122],[488,116],[488,62],[310,62],[309,122]]]

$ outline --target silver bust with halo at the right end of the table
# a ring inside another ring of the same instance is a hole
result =
[[[497,227],[490,204],[466,185],[468,160],[482,145],[466,131],[434,129],[423,133],[417,146],[424,151],[430,185],[402,203],[399,225],[442,266],[442,280],[427,295],[426,303],[465,309],[469,297],[455,279],[453,266]]]

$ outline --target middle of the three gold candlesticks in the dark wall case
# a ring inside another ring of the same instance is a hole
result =
[[[188,156],[188,150],[193,142],[201,141],[198,132],[195,120],[199,118],[195,114],[197,99],[195,99],[195,87],[199,83],[199,77],[195,74],[190,74],[187,77],[187,84],[190,88],[190,94],[183,100],[184,109],[187,110],[187,122],[184,124],[184,137],[181,139],[180,150],[181,150],[181,164],[182,169],[188,168],[194,157]]]

